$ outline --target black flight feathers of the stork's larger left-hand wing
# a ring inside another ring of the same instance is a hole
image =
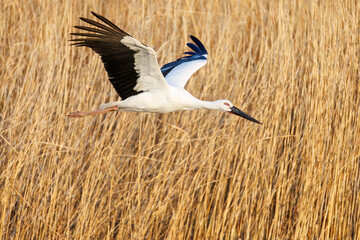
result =
[[[71,33],[71,35],[82,37],[70,40],[74,42],[72,45],[89,47],[101,56],[109,80],[122,100],[139,94],[141,91],[134,90],[139,78],[134,68],[136,52],[121,43],[124,37],[131,37],[131,35],[105,17],[94,12],[91,13],[106,25],[81,17],[82,21],[97,28],[75,26],[75,28],[87,32]]]

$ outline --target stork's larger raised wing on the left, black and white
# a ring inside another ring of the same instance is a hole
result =
[[[82,38],[72,39],[73,45],[86,46],[101,56],[109,80],[122,100],[156,88],[167,88],[155,51],[140,43],[105,17],[91,12],[106,25],[80,18],[97,28],[75,26],[85,30],[71,33]]]

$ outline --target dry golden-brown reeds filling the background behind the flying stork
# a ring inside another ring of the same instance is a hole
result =
[[[0,0],[2,239],[360,237],[356,1]],[[70,47],[90,10],[153,46],[198,36],[188,83],[262,121],[210,111],[68,119],[117,99]]]

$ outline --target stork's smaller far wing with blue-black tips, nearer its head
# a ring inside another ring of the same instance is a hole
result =
[[[162,74],[171,86],[184,88],[191,75],[207,62],[207,51],[204,45],[196,37],[190,36],[190,38],[196,44],[187,43],[193,51],[184,52],[186,56],[165,64],[161,68]]]

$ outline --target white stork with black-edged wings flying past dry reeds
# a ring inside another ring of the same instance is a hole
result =
[[[177,110],[210,109],[232,113],[252,122],[258,120],[235,107],[229,100],[201,101],[184,89],[185,84],[207,62],[204,45],[194,36],[187,46],[193,51],[161,69],[155,51],[121,30],[105,17],[91,12],[101,22],[80,19],[92,27],[74,26],[86,32],[71,33],[72,45],[89,47],[101,56],[105,70],[121,101],[105,103],[92,112],[73,112],[84,117],[111,111],[167,113]],[[94,28],[96,27],[96,28]]]

